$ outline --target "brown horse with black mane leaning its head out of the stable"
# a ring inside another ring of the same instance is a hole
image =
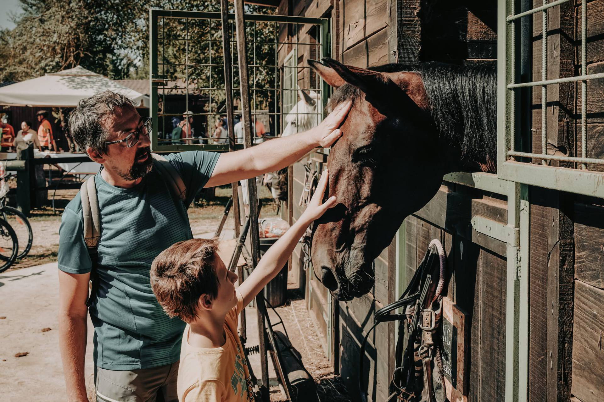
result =
[[[373,261],[434,197],[444,174],[495,171],[495,68],[309,65],[336,88],[327,112],[353,101],[327,158],[326,197],[338,202],[315,222],[311,249],[317,278],[349,301],[371,290]]]

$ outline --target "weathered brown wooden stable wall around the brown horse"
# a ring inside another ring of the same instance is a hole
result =
[[[519,1],[516,2],[519,4]],[[294,7],[288,7],[288,5]],[[532,7],[542,4],[534,0]],[[283,1],[281,13],[332,19],[332,57],[355,66],[425,61],[493,63],[496,59],[496,2],[474,0]],[[580,68],[580,2],[548,11],[547,78],[577,75]],[[588,74],[604,71],[604,0],[588,2]],[[541,79],[541,14],[532,17],[533,77]],[[308,58],[298,54],[298,65]],[[530,70],[529,70],[530,71]],[[300,83],[310,74],[301,72]],[[301,85],[302,86],[302,85]],[[308,88],[308,87],[306,87]],[[541,89],[528,92],[524,117],[533,132],[528,151],[541,152]],[[588,157],[604,158],[604,81],[588,82]],[[580,86],[548,89],[548,150],[580,150]],[[579,135],[577,136],[577,133]],[[302,162],[326,161],[313,153],[292,168],[290,211],[295,220],[303,188]],[[555,163],[553,163],[555,165]],[[589,165],[602,170],[604,165]],[[528,400],[604,400],[604,200],[542,188],[528,189],[530,201]],[[507,223],[507,200],[463,185],[443,182],[439,193],[408,217],[395,241],[376,260],[376,285],[361,299],[330,305],[329,293],[301,271],[309,311],[324,333],[324,349],[358,400],[358,353],[374,311],[394,294],[399,265],[402,289],[439,238],[448,253],[448,296],[469,314],[468,400],[500,401],[506,383],[506,247],[471,227],[475,215]],[[399,249],[397,254],[396,249]],[[292,268],[301,270],[300,247]],[[336,312],[333,315],[333,312]],[[334,339],[335,338],[335,339]],[[331,349],[334,345],[336,348]],[[381,324],[365,354],[370,400],[387,397],[394,369],[394,325]]]

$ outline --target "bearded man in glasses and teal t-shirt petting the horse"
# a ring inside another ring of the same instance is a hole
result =
[[[95,176],[101,238],[91,295],[95,327],[97,401],[175,401],[184,323],[169,319],[153,295],[153,258],[192,238],[186,208],[204,187],[259,176],[286,167],[315,147],[329,147],[350,103],[313,130],[230,153],[167,155],[187,187],[172,196],[153,169],[150,123],[122,95],[105,91],[80,101],[69,116],[76,143],[103,169]],[[84,356],[92,261],[83,238],[78,194],[65,208],[59,230],[59,342],[68,399],[86,401]]]

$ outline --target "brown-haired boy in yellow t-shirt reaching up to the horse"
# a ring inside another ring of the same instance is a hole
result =
[[[170,317],[187,322],[178,368],[179,401],[254,400],[237,319],[283,268],[310,223],[335,205],[335,197],[321,203],[327,179],[326,170],[306,211],[237,289],[237,275],[226,269],[217,254],[216,238],[181,241],[155,258],[153,293]]]

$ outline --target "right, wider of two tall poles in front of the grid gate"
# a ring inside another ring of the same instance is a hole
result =
[[[243,144],[245,148],[252,146],[252,115],[249,110],[249,80],[248,61],[245,43],[245,22],[243,21],[243,0],[235,0],[235,25],[237,32],[237,56],[239,57],[239,86],[241,93]],[[249,222],[252,244],[252,267],[260,261],[260,237],[258,229],[258,195],[255,177],[248,179]],[[268,361],[266,360],[266,328],[264,316],[266,307],[263,294],[256,296],[256,312],[258,315],[258,333],[260,343],[260,363],[262,366],[262,399],[269,401]]]

